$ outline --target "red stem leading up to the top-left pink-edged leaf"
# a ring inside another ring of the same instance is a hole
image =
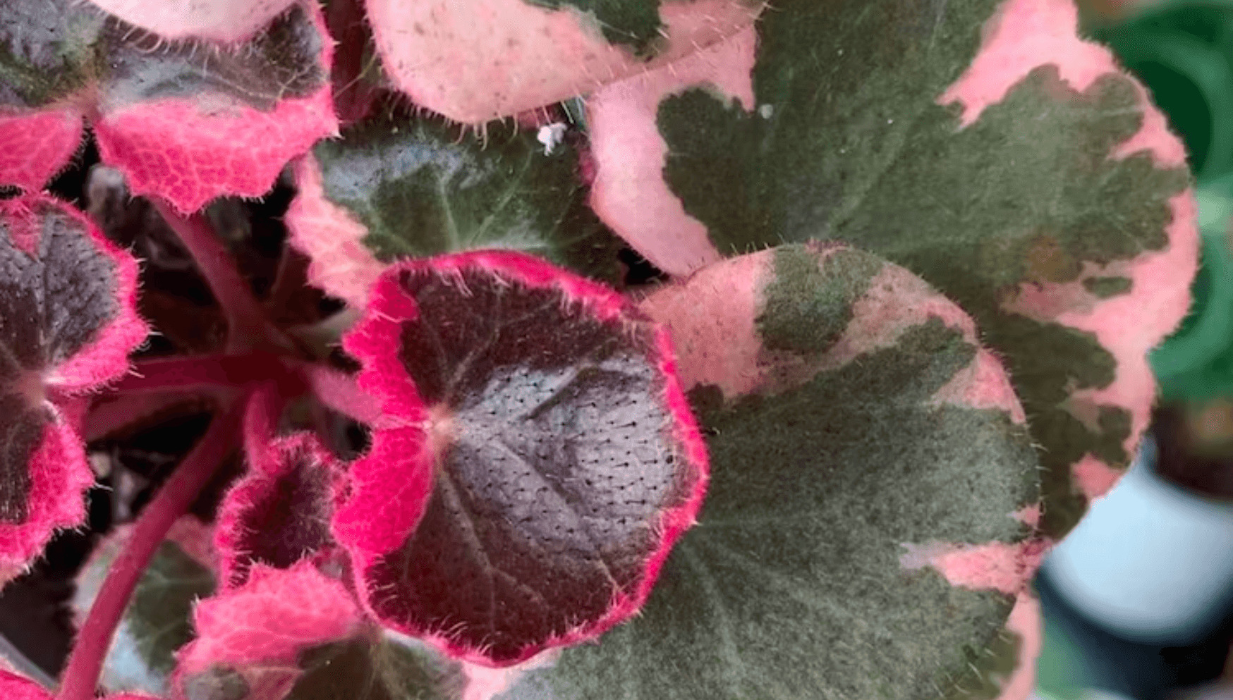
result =
[[[227,319],[227,350],[247,350],[260,345],[263,340],[282,345],[279,343],[281,334],[268,320],[265,309],[253,296],[244,276],[236,267],[234,259],[218,240],[205,214],[197,212],[187,217],[180,216],[171,205],[157,197],[152,197],[150,203],[189,249],[210,285],[210,291],[218,299]]]

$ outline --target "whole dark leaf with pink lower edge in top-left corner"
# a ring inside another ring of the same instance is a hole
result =
[[[0,22],[0,184],[38,190],[94,127],[105,163],[180,211],[255,197],[338,128],[319,7],[243,42],[168,42],[75,0],[15,0]]]

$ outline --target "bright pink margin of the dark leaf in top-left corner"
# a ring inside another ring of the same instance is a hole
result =
[[[328,71],[334,44],[322,10],[298,1],[323,38],[319,60]],[[247,105],[206,110],[190,100],[96,101],[79,95],[65,107],[0,115],[0,145],[10,147],[0,149],[0,184],[41,190],[80,147],[89,116],[102,161],[125,174],[132,192],[160,196],[187,214],[219,196],[265,195],[287,161],[321,138],[337,137],[339,127],[330,80],[269,112]]]

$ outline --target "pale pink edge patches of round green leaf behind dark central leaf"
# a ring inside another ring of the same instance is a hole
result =
[[[817,255],[820,264],[838,251],[852,250],[835,243],[804,245]],[[766,287],[773,281],[774,254],[776,249],[767,249],[720,260],[641,301],[642,311],[671,328],[677,338],[686,386],[716,386],[726,399],[778,388],[777,370],[792,367],[794,359],[768,352],[756,323],[764,309]],[[894,346],[904,330],[938,319],[961,332],[978,351],[972,364],[957,372],[928,403],[997,410],[1012,424],[1025,425],[1023,408],[1001,362],[979,346],[975,323],[920,277],[898,265],[884,264],[866,293],[852,304],[852,312],[847,329],[826,352],[825,366],[841,366],[866,352]],[[1039,511],[1039,504],[1033,504],[1009,513],[1007,518],[1020,520],[1034,532]],[[1027,590],[1027,582],[1052,542],[1030,536],[1014,545],[904,546],[906,553],[900,557],[900,566],[905,569],[932,566],[952,585],[1016,596],[1006,629],[1020,635],[1022,646],[1015,672],[997,679],[1001,684],[997,700],[1027,700],[1034,686],[1042,645],[1039,603]]]

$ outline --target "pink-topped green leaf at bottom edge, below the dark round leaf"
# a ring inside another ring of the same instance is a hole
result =
[[[365,624],[346,589],[308,562],[254,564],[244,585],[203,600],[180,654],[184,700],[460,700],[462,667]]]

